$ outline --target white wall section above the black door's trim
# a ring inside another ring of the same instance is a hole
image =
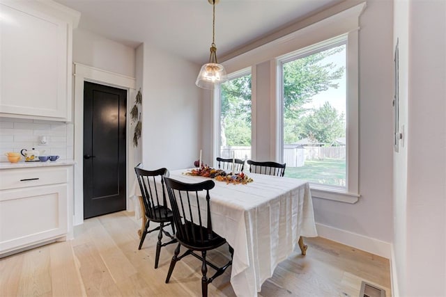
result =
[[[81,20],[82,21],[82,20]],[[72,34],[72,61],[134,77],[134,49],[101,35],[75,29]]]

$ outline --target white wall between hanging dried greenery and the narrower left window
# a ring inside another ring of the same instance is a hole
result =
[[[200,65],[146,43],[142,51],[144,168],[190,168],[198,159],[201,143],[204,99],[195,86]]]

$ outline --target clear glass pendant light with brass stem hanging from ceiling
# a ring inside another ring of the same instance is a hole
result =
[[[212,44],[210,45],[209,63],[201,66],[195,84],[200,88],[213,89],[216,85],[228,81],[226,70],[217,62],[217,47],[215,47],[215,4],[220,0],[208,0],[213,6]]]

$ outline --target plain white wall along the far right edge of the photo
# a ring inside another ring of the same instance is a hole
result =
[[[394,295],[446,296],[446,2],[395,10],[407,147],[394,166],[407,182],[395,180]]]

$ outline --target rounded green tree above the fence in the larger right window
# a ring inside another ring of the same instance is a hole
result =
[[[306,115],[302,122],[302,138],[317,143],[331,144],[336,138],[346,136],[344,113],[338,113],[328,102]]]

